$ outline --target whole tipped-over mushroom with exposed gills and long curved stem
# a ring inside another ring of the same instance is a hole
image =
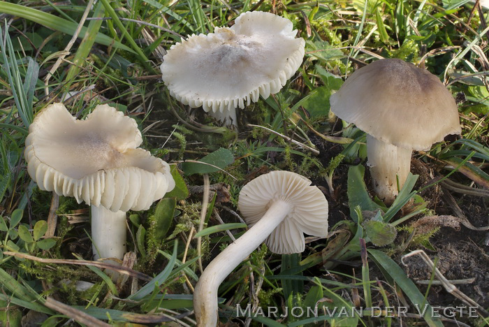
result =
[[[198,279],[194,291],[197,326],[217,325],[219,285],[263,241],[273,253],[292,254],[304,251],[304,233],[328,235],[328,201],[310,180],[296,173],[274,171],[252,180],[242,188],[238,208],[251,228]]]

